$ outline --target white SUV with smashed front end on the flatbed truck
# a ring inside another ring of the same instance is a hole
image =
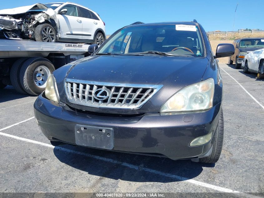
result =
[[[101,45],[106,39],[105,23],[76,3],[36,3],[0,10],[0,39]]]

